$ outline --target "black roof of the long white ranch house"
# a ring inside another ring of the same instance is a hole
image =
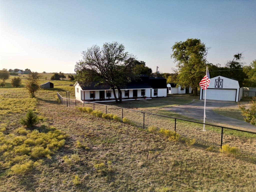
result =
[[[82,90],[109,90],[111,89],[108,85],[97,85],[96,82],[92,82],[90,85],[84,85],[78,82]],[[134,79],[127,83],[121,89],[162,89],[167,88],[166,79],[163,77],[147,77],[141,76],[140,78]]]

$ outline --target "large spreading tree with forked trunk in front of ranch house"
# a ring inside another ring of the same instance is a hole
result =
[[[122,102],[120,87],[127,83],[127,77],[132,76],[134,56],[125,52],[125,47],[118,42],[104,43],[102,47],[94,45],[82,51],[82,59],[76,63],[76,80],[84,85],[96,82],[96,85],[109,85],[118,89],[119,100]]]

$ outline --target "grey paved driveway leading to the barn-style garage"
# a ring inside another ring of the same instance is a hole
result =
[[[228,125],[233,125],[237,127],[242,127],[256,131],[256,127],[250,123],[240,121],[237,119],[229,118],[226,116],[219,115],[212,111],[215,108],[236,108],[237,103],[232,101],[216,101],[216,100],[206,100],[206,123],[224,123]],[[184,105],[177,105],[174,107],[166,108],[168,111],[179,113],[190,118],[204,120],[204,100],[199,100]]]

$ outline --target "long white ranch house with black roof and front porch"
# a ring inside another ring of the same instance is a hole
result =
[[[89,86],[81,82],[74,84],[76,99],[90,102],[115,101],[113,90],[110,86],[95,86],[92,82]],[[138,80],[132,80],[125,87],[121,88],[122,100],[152,99],[153,97],[167,97],[166,79],[162,77],[142,76]],[[119,98],[118,90],[115,90]]]

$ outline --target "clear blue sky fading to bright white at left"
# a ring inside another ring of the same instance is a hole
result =
[[[171,47],[199,38],[208,61],[256,59],[256,1],[0,1],[0,68],[73,72],[81,51],[118,41],[153,71]]]

